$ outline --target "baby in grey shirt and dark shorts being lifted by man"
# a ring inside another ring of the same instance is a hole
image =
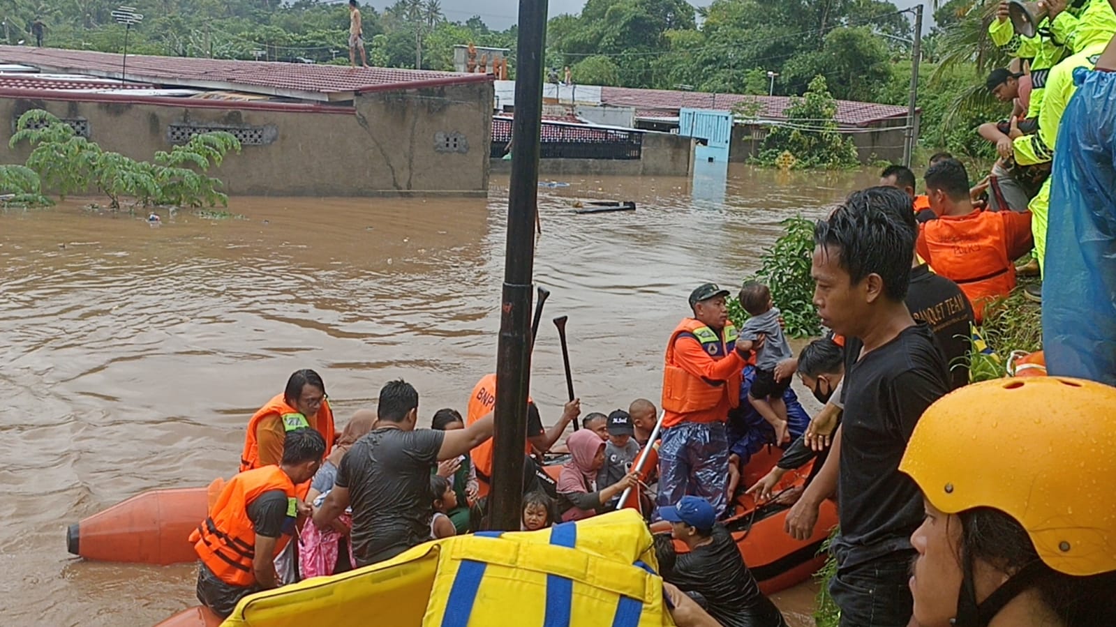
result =
[[[748,401],[763,419],[775,427],[775,443],[790,440],[787,404],[782,395],[790,378],[776,380],[775,367],[793,356],[779,324],[779,308],[771,302],[771,290],[763,283],[748,281],[740,288],[740,305],[751,316],[740,329],[740,339],[754,340],[764,336],[763,347],[756,354],[756,378],[748,390]]]

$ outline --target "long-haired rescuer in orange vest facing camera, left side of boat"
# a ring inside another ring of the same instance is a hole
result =
[[[305,368],[287,379],[287,388],[248,421],[240,472],[278,464],[283,453],[283,437],[296,430],[312,428],[321,434],[327,447],[334,445],[334,412],[326,399],[326,384],[318,373]]]

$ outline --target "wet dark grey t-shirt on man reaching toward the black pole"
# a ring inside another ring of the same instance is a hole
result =
[[[337,471],[353,508],[357,566],[391,559],[430,540],[430,474],[445,432],[382,427],[358,440]]]

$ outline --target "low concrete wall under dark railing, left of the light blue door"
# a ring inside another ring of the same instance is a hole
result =
[[[539,174],[567,176],[689,176],[694,141],[667,133],[645,133],[639,160],[543,158]],[[508,174],[511,162],[492,160],[492,172]]]

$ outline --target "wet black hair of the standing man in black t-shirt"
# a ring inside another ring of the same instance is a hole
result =
[[[906,298],[917,228],[908,210],[911,199],[895,187],[854,192],[827,220],[814,229],[814,243],[848,272],[852,284],[878,274],[884,295]],[[905,215],[902,218],[901,215]]]

